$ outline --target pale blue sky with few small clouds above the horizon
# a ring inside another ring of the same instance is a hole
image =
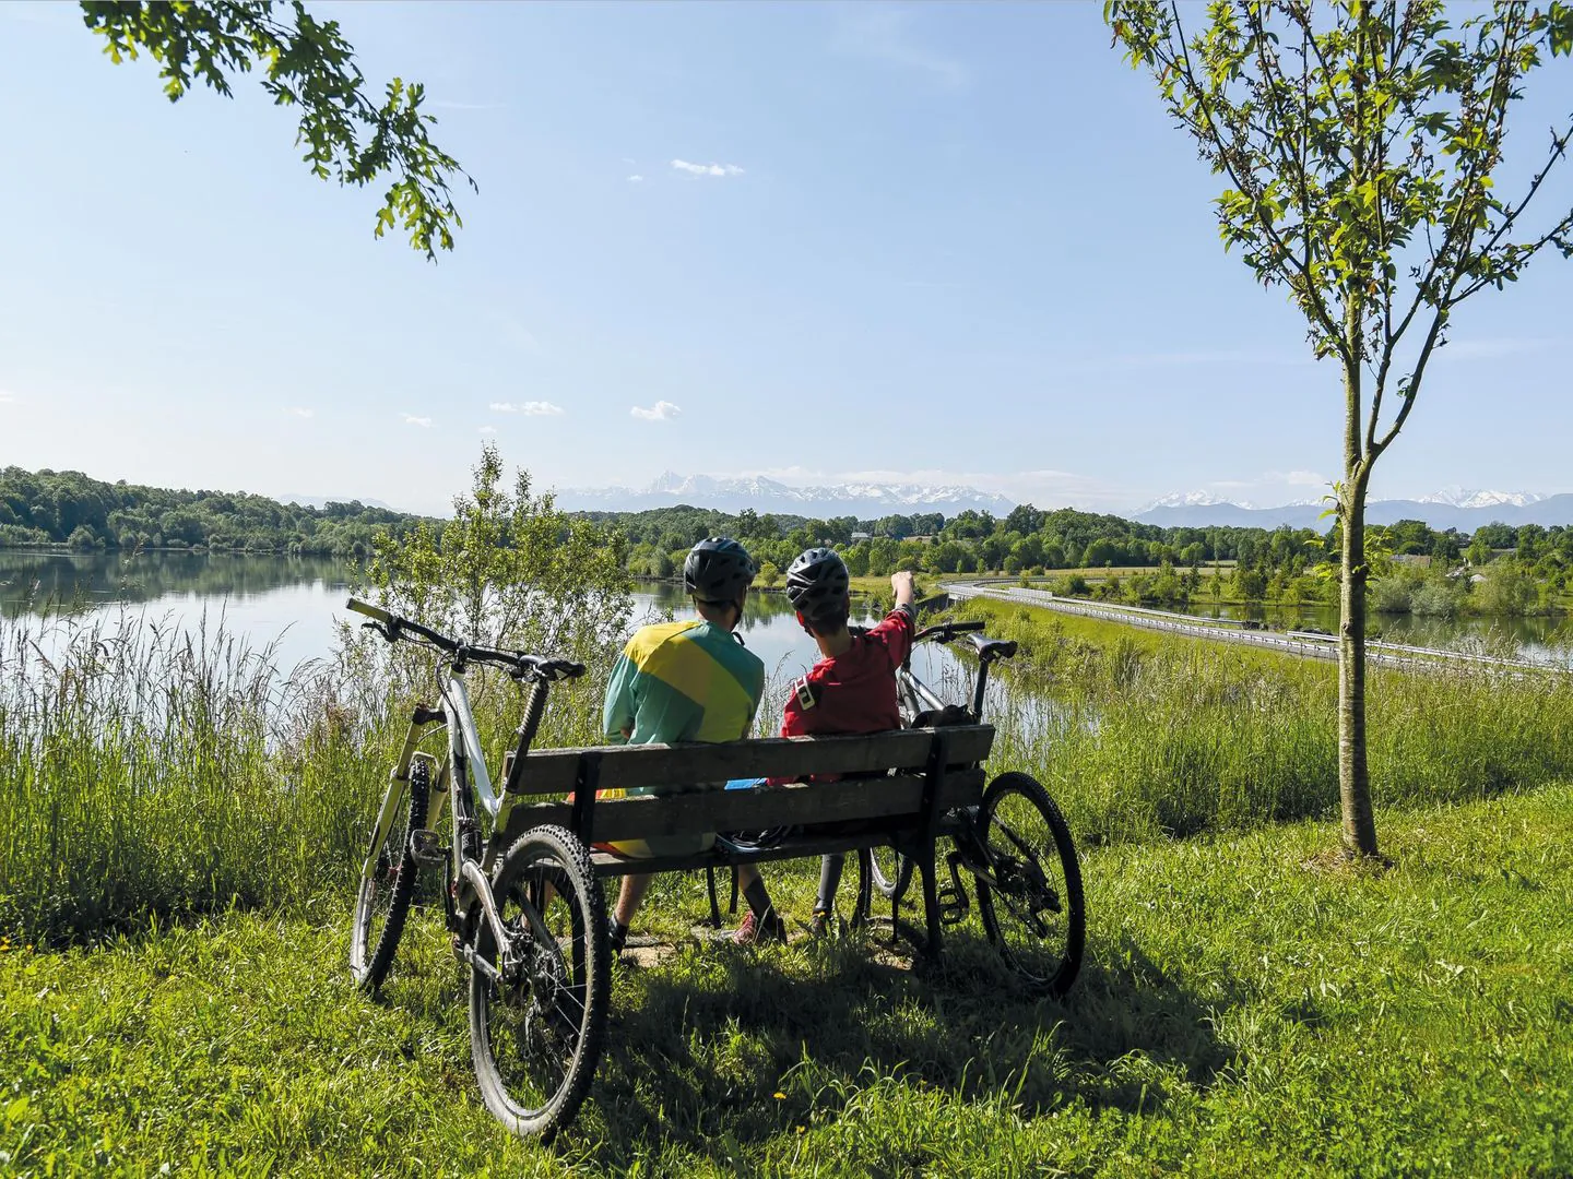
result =
[[[1335,373],[1224,255],[1221,185],[1100,5],[313,11],[426,83],[480,184],[436,266],[255,83],[171,105],[74,6],[0,5],[0,464],[414,509],[483,437],[540,486],[1101,509],[1339,470]],[[1570,107],[1560,58],[1512,146]],[[1554,255],[1468,303],[1373,494],[1573,490],[1570,313]]]

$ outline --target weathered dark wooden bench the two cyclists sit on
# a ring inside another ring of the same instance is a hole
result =
[[[596,850],[596,876],[628,876],[793,860],[893,846],[922,872],[928,951],[939,951],[936,839],[950,813],[983,797],[989,725],[898,729],[849,737],[764,737],[716,745],[635,745],[532,751],[518,791],[499,811],[507,847],[536,825],[557,824],[587,847],[618,839],[790,827],[758,850],[717,844],[691,855],[624,857]],[[838,781],[796,781],[838,775]],[[785,786],[720,789],[728,780],[793,780]],[[670,795],[598,799],[598,791],[717,783]],[[543,795],[555,795],[541,800]],[[571,800],[566,800],[571,795]],[[714,890],[711,893],[714,898]],[[714,901],[713,901],[714,904]],[[868,916],[867,874],[854,920]]]

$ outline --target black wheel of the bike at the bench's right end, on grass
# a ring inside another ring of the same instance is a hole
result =
[[[1046,836],[1015,830],[1033,814]],[[1060,998],[1081,971],[1087,942],[1081,863],[1065,816],[1035,778],[1002,773],[983,792],[977,838],[1004,869],[999,894],[974,872],[983,931],[1024,982]]]

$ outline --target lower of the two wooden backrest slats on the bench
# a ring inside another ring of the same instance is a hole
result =
[[[972,806],[983,795],[983,770],[945,773],[939,808]],[[923,778],[857,778],[832,783],[793,783],[744,791],[695,791],[665,797],[602,799],[595,805],[595,839],[635,839],[702,832],[761,830],[788,824],[848,819],[920,817]],[[541,824],[571,825],[571,806],[562,802],[524,803],[508,817],[505,841]]]

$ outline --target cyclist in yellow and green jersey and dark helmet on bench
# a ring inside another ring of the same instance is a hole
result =
[[[623,648],[606,690],[607,740],[628,745],[670,745],[683,740],[736,740],[749,736],[764,693],[764,663],[736,634],[742,604],[753,585],[753,560],[736,541],[711,536],[683,563],[683,586],[698,618],[642,627]],[[651,794],[720,789],[725,783],[673,783]],[[645,791],[640,791],[645,792]],[[629,857],[689,855],[714,844],[714,835],[653,836],[610,844]],[[752,868],[739,869],[749,901],[744,929],[785,938],[785,923],[771,905],[764,882]],[[628,927],[650,876],[623,877],[612,913],[612,949],[628,940]],[[757,940],[750,934],[744,940]]]

